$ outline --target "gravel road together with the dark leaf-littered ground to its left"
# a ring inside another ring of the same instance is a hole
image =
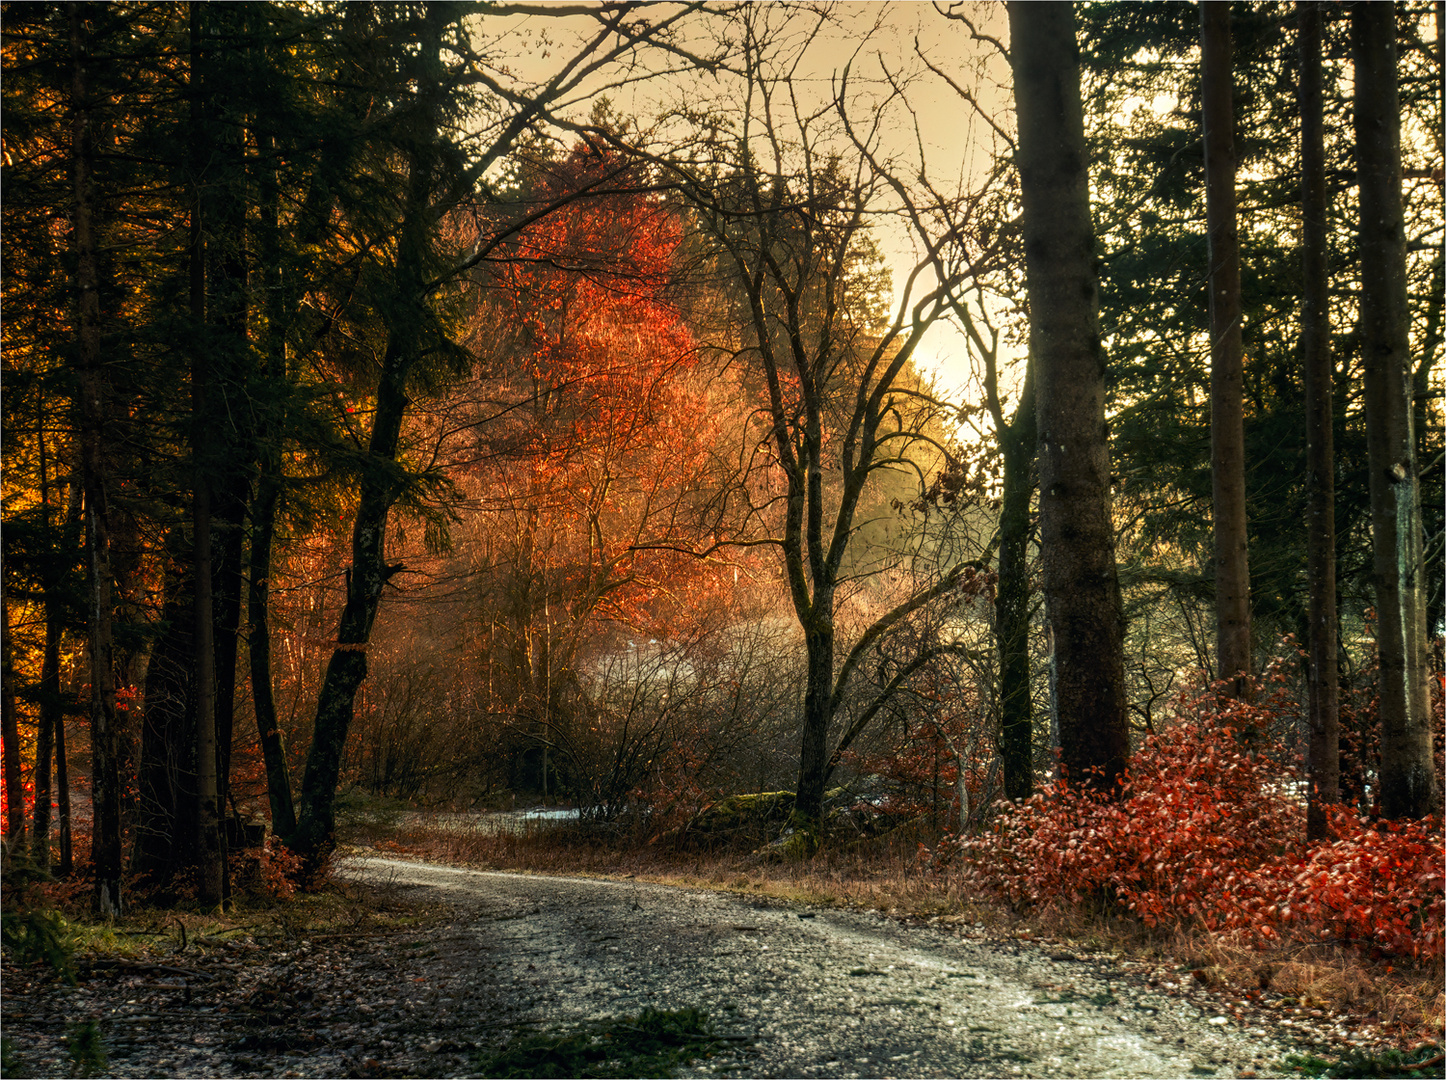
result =
[[[6,960],[6,1073],[477,1076],[518,1032],[643,1006],[716,1019],[724,1041],[684,1076],[1264,1077],[1355,1034],[1270,993],[949,918],[379,857],[343,872],[415,924],[166,938],[82,963],[75,987]]]

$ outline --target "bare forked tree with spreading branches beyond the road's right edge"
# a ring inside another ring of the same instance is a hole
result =
[[[761,9],[743,19],[745,48],[759,58],[766,23]],[[834,110],[843,130],[830,130],[823,113],[800,103],[788,74],[794,62],[761,58],[742,87],[736,126],[711,133],[704,165],[674,168],[740,308],[742,334],[724,348],[746,361],[761,399],[746,473],[777,512],[759,515],[765,532],[749,542],[777,552],[803,636],[792,827],[801,849],[813,850],[842,755],[931,659],[962,648],[934,640],[882,685],[862,685],[866,665],[891,633],[966,586],[972,567],[964,562],[897,593],[881,588],[873,599],[882,610],[855,626],[847,600],[863,583],[878,587],[881,573],[899,560],[898,552],[856,544],[870,494],[891,474],[905,477],[918,494],[927,487],[924,473],[943,461],[931,427],[937,413],[911,364],[970,267],[946,266],[938,257],[951,239],[959,241],[956,256],[963,249],[963,237],[940,230],[897,307],[879,304],[882,289],[868,265],[869,220],[888,207],[917,230],[936,220],[936,207],[927,192],[908,201],[912,192],[878,150],[882,121],[875,116],[855,126],[842,87]],[[839,136],[852,152],[830,145]]]

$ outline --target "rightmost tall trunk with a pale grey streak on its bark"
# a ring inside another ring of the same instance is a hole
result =
[[[1424,817],[1436,813],[1437,805],[1426,685],[1395,4],[1352,4],[1351,38],[1361,184],[1361,348],[1379,651],[1381,811],[1391,818]]]

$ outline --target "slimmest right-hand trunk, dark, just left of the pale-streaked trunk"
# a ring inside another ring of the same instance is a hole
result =
[[[1330,357],[1330,280],[1326,240],[1326,136],[1322,106],[1317,0],[1296,4],[1300,19],[1300,363],[1306,383],[1306,560],[1310,578],[1310,792],[1306,837],[1326,836],[1327,814],[1340,801],[1340,697],[1336,671],[1336,463],[1335,366]]]

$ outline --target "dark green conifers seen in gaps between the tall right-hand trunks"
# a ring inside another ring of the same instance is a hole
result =
[[[1416,65],[1436,69],[1433,29],[1421,10],[1397,9],[1403,42],[1398,69],[1403,85],[1414,81]],[[1119,487],[1116,502],[1128,515],[1122,531],[1122,580],[1132,625],[1151,627],[1152,645],[1141,655],[1151,668],[1165,661],[1165,649],[1194,651],[1197,613],[1209,590],[1205,520],[1207,477],[1203,468],[1209,400],[1205,380],[1207,338],[1200,321],[1206,311],[1203,175],[1194,139],[1199,137],[1194,27],[1181,9],[1082,9],[1082,62],[1086,72],[1086,119],[1100,197],[1102,321],[1112,344],[1111,400],[1113,450]],[[1299,49],[1294,26],[1280,9],[1235,7],[1236,146],[1241,153],[1239,234],[1242,244],[1242,304],[1245,341],[1246,518],[1251,561],[1252,619],[1259,651],[1290,632],[1307,640],[1307,573],[1304,552],[1307,477],[1306,390],[1297,366],[1304,346],[1297,322],[1301,298],[1297,244],[1299,143],[1296,97]],[[1281,30],[1285,33],[1281,33]],[[1361,337],[1356,333],[1356,221],[1346,198],[1355,182],[1353,103],[1343,80],[1349,55],[1348,20],[1329,16],[1322,26],[1322,169],[1325,176],[1322,295],[1335,328],[1329,337],[1332,376],[1332,438],[1335,448],[1338,544],[1333,570],[1339,581],[1339,674],[1342,693],[1369,685],[1369,622],[1374,588],[1368,574],[1368,506],[1365,409],[1362,399]],[[1424,71],[1424,68],[1421,68]],[[1154,104],[1145,104],[1145,101]],[[1168,104],[1167,104],[1168,103]],[[1407,231],[1417,247],[1407,259],[1414,341],[1413,372],[1424,389],[1426,372],[1439,367],[1434,333],[1436,257],[1424,239],[1439,227],[1439,187],[1426,176],[1426,162],[1439,155],[1433,132],[1439,94],[1407,94],[1400,116]],[[1414,155],[1414,156],[1413,156]],[[1306,211],[1307,214],[1310,211]],[[1319,338],[1317,338],[1319,340]],[[1417,400],[1419,445],[1439,440],[1440,413]],[[1423,483],[1434,484],[1437,479]],[[1434,489],[1433,489],[1434,490]],[[1439,499],[1436,500],[1439,502]],[[1439,528],[1432,497],[1423,500],[1424,529]],[[1313,516],[1310,520],[1316,520]],[[1427,549],[1430,545],[1427,544]],[[1439,580],[1434,557],[1424,565]],[[1434,596],[1434,591],[1429,593]],[[1170,604],[1158,600],[1170,599]],[[1178,630],[1164,633],[1174,612]],[[1209,623],[1206,622],[1206,632]],[[1134,653],[1134,649],[1132,649]],[[1151,659],[1152,655],[1152,659]],[[1177,652],[1178,658],[1181,653]],[[1215,656],[1200,652],[1215,672]],[[1131,659],[1131,669],[1137,661]],[[1158,668],[1157,668],[1158,669]],[[1374,769],[1369,730],[1349,719],[1342,727],[1343,784],[1361,792]]]

